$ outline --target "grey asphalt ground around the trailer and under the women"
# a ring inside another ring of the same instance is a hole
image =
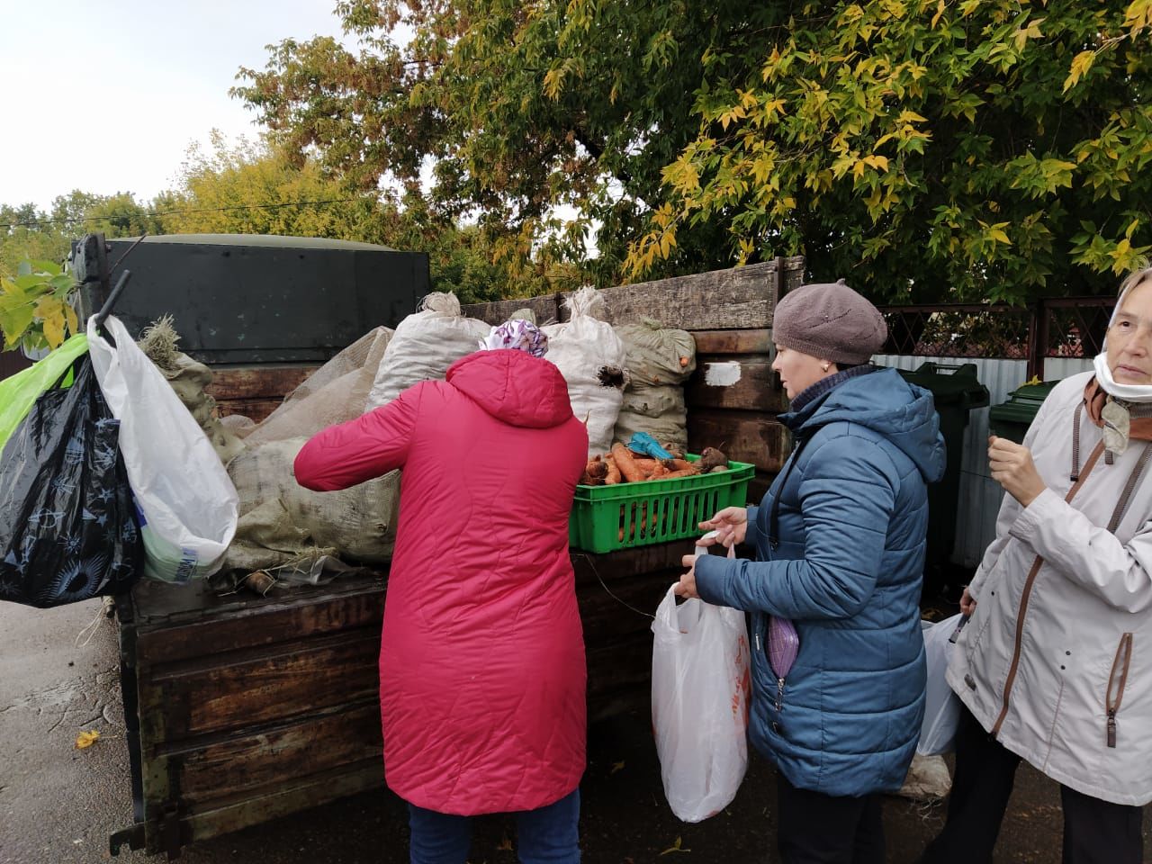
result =
[[[114,624],[99,601],[36,611],[0,602],[0,862],[111,861],[108,834],[131,823]],[[91,639],[84,628],[96,622]],[[79,638],[77,638],[79,637]],[[76,736],[97,730],[90,748]],[[774,862],[775,779],[753,758],[733,804],[699,825],[664,802],[649,718],[628,714],[590,730],[582,785],[585,864]],[[942,805],[889,798],[888,861],[909,864],[941,825]],[[1059,790],[1024,766],[996,863],[1059,862]],[[1145,819],[1145,846],[1152,820]],[[476,820],[471,864],[513,864],[511,823]],[[365,793],[185,849],[188,864],[402,864],[404,805]],[[159,862],[127,849],[116,861]]]

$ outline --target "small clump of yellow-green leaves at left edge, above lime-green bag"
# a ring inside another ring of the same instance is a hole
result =
[[[3,350],[58,348],[79,332],[71,293],[76,285],[53,262],[21,262],[13,276],[0,276],[0,334]]]

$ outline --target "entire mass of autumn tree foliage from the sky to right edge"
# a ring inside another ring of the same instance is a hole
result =
[[[358,54],[286,41],[235,92],[357,188],[431,166],[429,207],[476,214],[511,273],[799,252],[877,298],[1022,301],[1112,290],[1152,243],[1152,0],[338,12]]]

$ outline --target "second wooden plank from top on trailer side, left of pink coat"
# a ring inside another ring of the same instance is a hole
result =
[[[164,718],[162,733],[142,725],[150,744],[228,732],[372,698],[380,638],[374,628],[253,655],[211,653],[195,665],[139,675],[143,718]]]

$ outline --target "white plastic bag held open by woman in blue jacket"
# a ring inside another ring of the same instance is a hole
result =
[[[751,658],[743,612],[677,606],[674,589],[652,623],[652,729],[668,806],[698,823],[736,797],[748,770]]]

